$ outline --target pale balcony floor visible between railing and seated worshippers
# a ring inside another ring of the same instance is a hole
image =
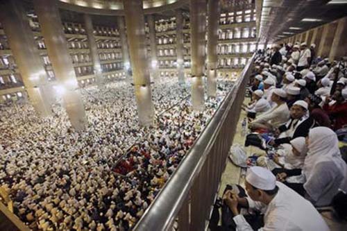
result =
[[[247,101],[247,99],[245,100]],[[237,133],[235,134],[233,144],[244,144],[244,136],[242,136],[242,121],[246,117],[245,112],[241,112],[239,122],[237,123]],[[247,147],[245,148],[246,153],[261,153],[262,151],[259,148],[255,147]],[[223,191],[226,188],[226,185],[228,184],[239,184],[243,185],[244,183],[244,176],[243,171],[241,171],[241,168],[239,166],[236,166],[235,164],[232,164],[232,162],[228,159],[226,163],[226,169],[223,172],[223,175],[221,176],[221,185],[219,188],[219,196],[223,196]],[[330,230],[332,231],[342,231],[347,230],[347,222],[338,222],[336,219],[332,217],[332,215],[329,212],[322,213],[323,218],[325,219],[326,223],[329,225]]]

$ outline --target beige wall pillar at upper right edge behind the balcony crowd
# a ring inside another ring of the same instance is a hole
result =
[[[329,59],[337,60],[346,55],[347,51],[347,17],[339,19],[334,40],[332,41]]]

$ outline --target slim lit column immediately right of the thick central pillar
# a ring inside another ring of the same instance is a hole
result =
[[[155,24],[153,15],[147,16],[149,24],[149,42],[151,46],[151,70],[153,79],[158,80],[158,58],[157,58],[157,40],[155,39]]]

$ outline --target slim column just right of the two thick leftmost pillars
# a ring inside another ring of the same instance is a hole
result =
[[[90,15],[85,14],[84,19],[85,19],[85,32],[87,33],[87,37],[88,37],[90,56],[92,57],[96,84],[98,85],[98,87],[101,87],[103,85],[103,79],[101,75],[102,71],[101,71],[98,49],[96,48],[95,37],[93,34],[94,29],[93,29],[92,17],[90,17]]]

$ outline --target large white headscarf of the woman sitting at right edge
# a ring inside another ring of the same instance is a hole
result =
[[[341,153],[339,150],[339,140],[337,139],[336,133],[330,128],[316,127],[312,128],[308,135],[308,153],[305,158],[305,164],[303,173],[307,181],[312,176],[312,170],[314,166],[319,162],[333,161],[337,168],[344,172],[346,164],[341,159]],[[342,162],[341,162],[342,160]],[[316,176],[317,177],[317,176]]]

